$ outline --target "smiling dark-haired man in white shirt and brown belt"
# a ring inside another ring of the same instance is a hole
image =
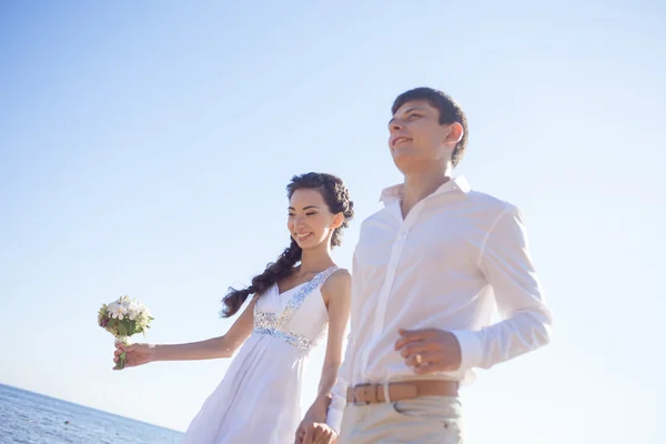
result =
[[[467,121],[447,94],[397,97],[384,190],[354,252],[351,334],[326,423],[304,443],[463,443],[458,384],[549,341],[519,210],[452,179]],[[502,321],[491,324],[497,306]],[[344,417],[343,417],[344,412]]]

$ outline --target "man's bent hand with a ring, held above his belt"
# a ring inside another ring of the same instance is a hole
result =
[[[451,332],[438,329],[403,330],[395,350],[415,373],[452,372],[461,366],[461,344]]]

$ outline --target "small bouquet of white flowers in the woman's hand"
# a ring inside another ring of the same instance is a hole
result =
[[[130,336],[137,333],[145,334],[153,320],[145,306],[130,300],[127,295],[110,304],[102,304],[98,313],[98,324],[115,336],[115,344],[130,344]],[[115,369],[123,369],[125,352],[119,356]]]

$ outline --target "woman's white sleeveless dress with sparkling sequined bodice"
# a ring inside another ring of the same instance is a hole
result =
[[[254,331],[190,424],[182,444],[293,444],[302,420],[301,381],[310,351],[326,336],[321,286],[330,268],[256,301]]]

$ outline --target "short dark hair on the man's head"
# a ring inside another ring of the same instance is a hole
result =
[[[457,122],[463,125],[463,138],[453,149],[451,161],[453,167],[463,159],[465,154],[465,148],[467,148],[467,118],[461,105],[453,100],[453,98],[445,92],[435,90],[433,88],[415,88],[413,90],[403,92],[393,102],[391,107],[391,113],[395,114],[403,104],[414,100],[425,100],[431,107],[435,108],[440,112],[440,124],[451,124]]]

